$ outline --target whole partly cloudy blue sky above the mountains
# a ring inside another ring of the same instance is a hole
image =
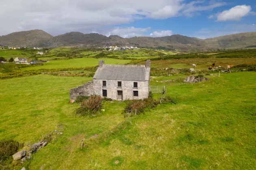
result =
[[[256,31],[256,0],[0,0],[0,36],[40,29],[209,38]]]

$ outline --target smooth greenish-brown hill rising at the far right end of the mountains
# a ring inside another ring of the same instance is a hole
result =
[[[256,32],[245,32],[208,38],[204,40],[210,47],[215,48],[241,48],[256,45]]]

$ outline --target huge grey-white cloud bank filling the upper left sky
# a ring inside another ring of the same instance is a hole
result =
[[[225,3],[184,0],[5,0],[0,4],[0,35],[22,30],[42,29],[57,35],[123,23],[135,19],[166,19],[192,16]],[[11,11],[11,12],[10,12]]]

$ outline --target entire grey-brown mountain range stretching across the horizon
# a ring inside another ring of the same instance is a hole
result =
[[[102,47],[113,45],[132,45],[138,47],[163,47],[166,49],[207,50],[223,48],[243,48],[256,45],[256,32],[245,32],[199,39],[194,37],[171,35],[164,37],[132,37],[122,38],[117,35],[109,37],[97,34],[69,32],[52,36],[43,30],[14,32],[0,36],[0,44],[13,47]]]

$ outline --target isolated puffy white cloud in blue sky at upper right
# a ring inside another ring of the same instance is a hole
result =
[[[249,15],[251,10],[249,5],[238,5],[220,13],[217,16],[217,21],[240,21],[242,17]]]

